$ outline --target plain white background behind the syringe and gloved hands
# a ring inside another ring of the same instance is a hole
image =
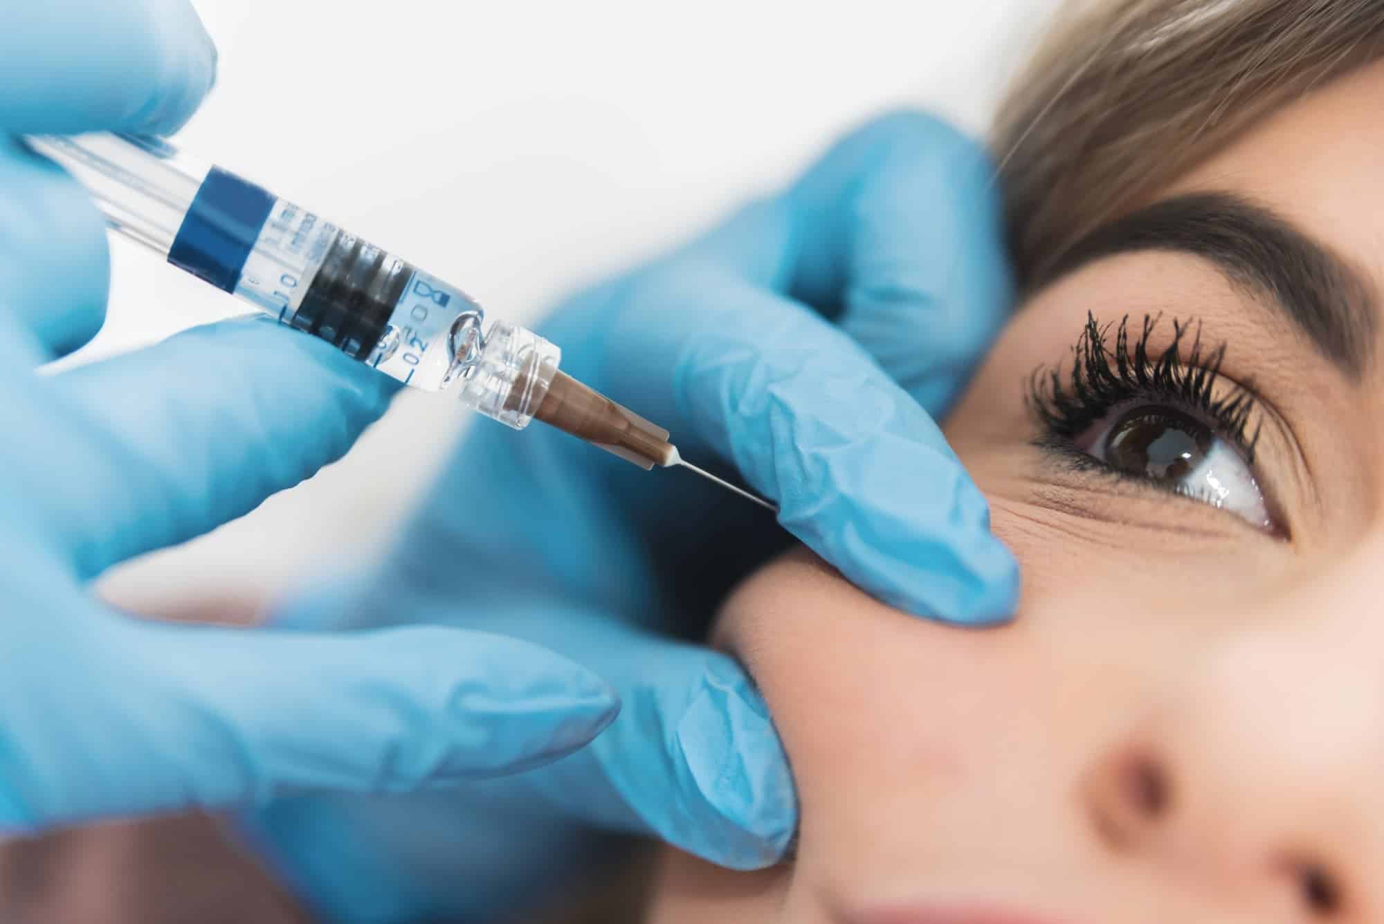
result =
[[[984,134],[1056,0],[197,7],[220,80],[177,144],[523,322],[782,184],[875,112],[931,108]],[[113,252],[109,320],[80,358],[245,310],[143,250]],[[403,397],[343,462],[116,571],[108,592],[137,607],[273,592],[368,555],[459,414]]]

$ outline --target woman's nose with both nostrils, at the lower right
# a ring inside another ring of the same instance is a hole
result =
[[[1358,870],[1384,859],[1384,681],[1336,642],[1279,625],[1208,653],[1091,766],[1093,837],[1250,920],[1360,906],[1374,887]]]

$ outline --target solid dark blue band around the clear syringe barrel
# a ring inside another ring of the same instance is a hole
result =
[[[212,167],[183,217],[169,263],[234,293],[274,202],[266,190]]]

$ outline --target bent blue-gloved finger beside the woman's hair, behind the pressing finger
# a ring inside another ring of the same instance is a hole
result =
[[[933,415],[1013,304],[988,155],[912,112],[853,131],[787,192],[691,253],[837,321]]]

